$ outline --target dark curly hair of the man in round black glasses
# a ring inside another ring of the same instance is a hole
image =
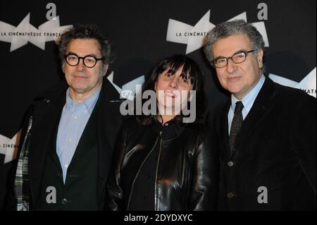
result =
[[[76,24],[73,28],[70,28],[63,32],[61,37],[58,39],[58,51],[59,58],[61,59],[62,68],[65,64],[65,55],[68,47],[68,43],[72,39],[96,39],[100,44],[101,56],[104,58],[102,63],[108,64],[108,67],[111,68],[111,63],[115,59],[115,47],[111,39],[109,39],[101,29],[94,24]],[[102,67],[104,68],[104,66]],[[111,69],[108,69],[110,72]]]

